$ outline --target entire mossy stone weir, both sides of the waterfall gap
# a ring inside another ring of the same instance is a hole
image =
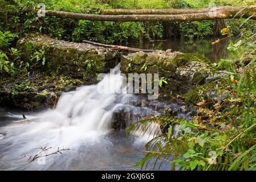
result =
[[[120,69],[124,73],[159,73],[168,82],[162,85],[162,93],[185,93],[191,88],[194,71],[200,66],[195,63],[192,66],[174,64],[173,59],[180,52],[170,50],[128,54],[39,34],[30,34],[19,40],[18,49],[22,51],[21,61],[28,61],[31,71],[18,78],[5,77],[0,81],[0,106],[22,110],[54,107],[62,92],[95,84],[98,73],[107,73],[118,63],[121,63]],[[36,58],[36,55],[39,55],[39,61],[32,62],[31,58]],[[42,57],[46,60],[44,65],[40,63]],[[201,72],[198,75],[206,77]]]

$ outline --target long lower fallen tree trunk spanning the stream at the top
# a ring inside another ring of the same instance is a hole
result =
[[[202,9],[198,9],[202,11]],[[186,13],[188,9],[182,10],[180,13]],[[251,18],[256,19],[256,7],[216,7],[216,11],[208,13],[193,14],[176,14],[176,15],[95,15],[71,13],[66,11],[46,10],[46,15],[61,16],[66,18],[100,20],[112,22],[145,22],[145,21],[174,21],[189,22],[196,20],[213,20],[213,19],[231,19],[231,18]]]

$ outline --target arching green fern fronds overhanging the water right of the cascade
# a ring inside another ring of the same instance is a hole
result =
[[[168,115],[157,115],[133,123],[127,129],[128,135],[136,132],[141,135],[147,132],[152,134],[152,131],[148,131],[152,130],[152,127],[149,127],[152,123],[154,126],[159,127],[159,130],[153,131],[153,139],[145,144],[146,151],[144,152],[146,152],[147,155],[145,155],[136,166],[141,166],[141,169],[147,169],[149,162],[154,160],[153,169],[156,167],[160,169],[163,164],[169,163],[170,168],[174,170],[176,164],[171,164],[170,161],[181,158],[182,154],[188,151],[188,146],[181,139],[172,137],[172,131],[170,131],[172,127],[169,126],[182,121],[185,120],[182,118],[169,117]]]

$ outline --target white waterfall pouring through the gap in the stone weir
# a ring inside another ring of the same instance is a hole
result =
[[[123,77],[120,74],[118,65],[98,84],[64,93],[56,109],[48,113],[50,118],[63,126],[79,127],[83,133],[108,131],[113,111],[129,97],[123,88]],[[117,92],[99,93],[97,88],[101,85],[115,88]]]

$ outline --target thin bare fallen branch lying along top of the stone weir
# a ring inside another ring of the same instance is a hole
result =
[[[116,46],[116,45],[109,45],[109,44],[101,44],[97,42],[91,42],[88,40],[83,40],[83,43],[92,44],[94,46],[100,46],[100,47],[106,47],[106,48],[112,48],[112,49],[120,49],[123,51],[132,51],[132,52],[156,52],[155,50],[151,49],[139,49],[139,48],[132,48],[132,47],[125,47],[125,46]]]

